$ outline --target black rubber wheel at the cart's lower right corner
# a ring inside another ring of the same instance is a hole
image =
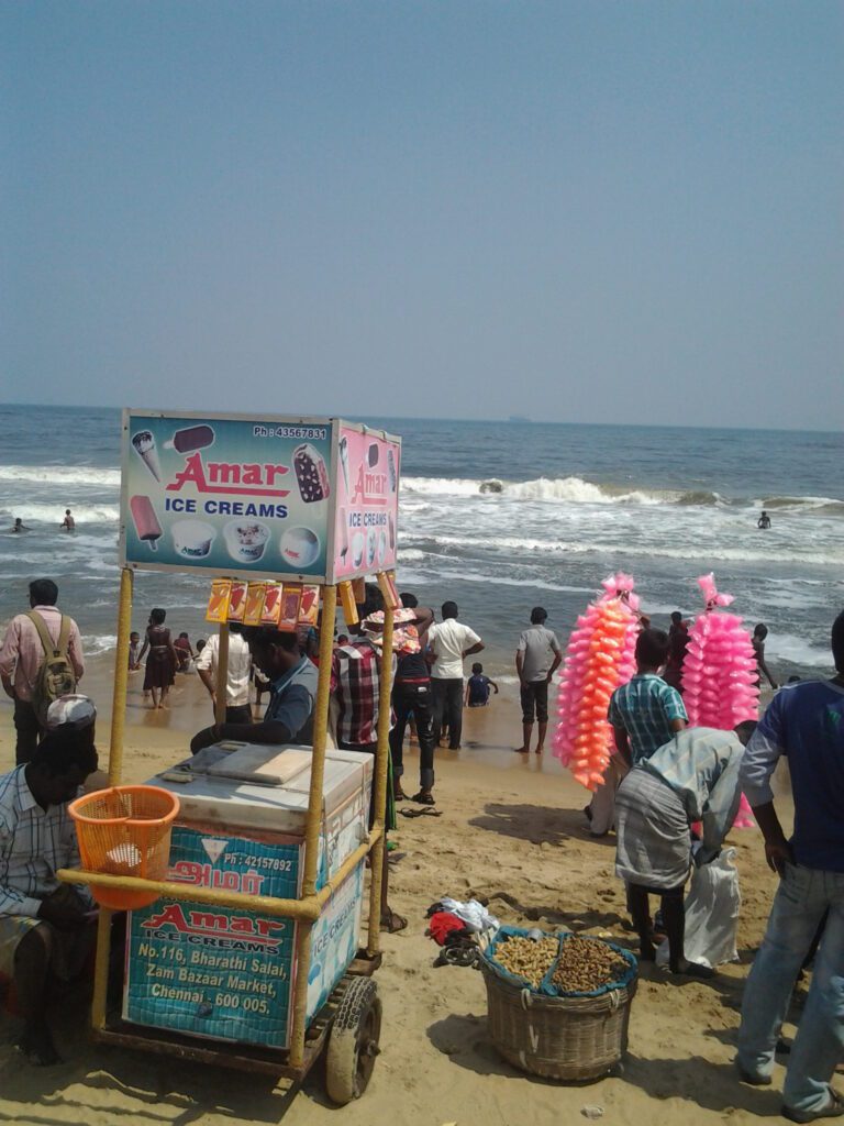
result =
[[[331,1026],[325,1055],[325,1090],[344,1107],[366,1091],[378,1055],[381,1000],[369,977],[352,977]]]

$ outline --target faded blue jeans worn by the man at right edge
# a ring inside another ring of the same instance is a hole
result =
[[[827,909],[782,1089],[792,1110],[828,1106],[829,1080],[844,1056],[844,873],[787,866],[742,1002],[739,1066],[751,1075],[770,1075],[797,975]]]

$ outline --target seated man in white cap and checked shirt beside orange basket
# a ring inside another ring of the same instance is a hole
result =
[[[97,769],[95,716],[84,696],[54,701],[32,760],[0,775],[0,977],[15,982],[18,1047],[39,1065],[61,1062],[46,1021],[51,988],[80,976],[93,949],[90,893],[55,873],[79,866],[68,803]]]

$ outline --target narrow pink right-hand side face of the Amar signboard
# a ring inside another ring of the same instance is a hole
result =
[[[401,441],[389,435],[340,426],[335,579],[395,568],[401,455]]]

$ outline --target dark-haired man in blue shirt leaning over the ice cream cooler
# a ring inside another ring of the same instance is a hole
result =
[[[198,732],[190,743],[196,754],[224,739],[249,743],[303,743],[313,740],[314,699],[318,670],[299,653],[296,633],[272,626],[243,629],[252,660],[270,682],[270,703],[260,723],[215,723]]]

